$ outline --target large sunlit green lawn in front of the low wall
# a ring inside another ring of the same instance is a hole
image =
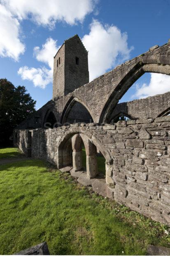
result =
[[[41,160],[0,166],[0,254],[47,241],[51,254],[145,254],[167,227],[105,199]]]

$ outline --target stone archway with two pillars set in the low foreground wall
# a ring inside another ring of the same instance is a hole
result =
[[[83,127],[80,129],[79,127],[77,127],[77,129],[74,127],[72,129],[74,132],[65,133],[65,136],[58,145],[58,168],[61,169],[66,166],[70,166],[70,154],[72,154],[72,167],[75,169],[75,171],[81,170],[82,144],[84,144],[86,150],[86,171],[88,179],[94,178],[98,174],[98,166],[96,160],[97,149],[100,150],[106,160],[107,172],[107,164],[109,165],[112,162],[112,158],[102,147],[102,144],[98,141],[97,137],[92,137],[91,133],[89,132],[85,134]],[[71,143],[72,146],[68,147],[68,143]]]

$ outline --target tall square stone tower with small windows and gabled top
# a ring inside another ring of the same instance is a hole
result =
[[[88,52],[75,35],[65,40],[54,56],[53,100],[88,82]]]

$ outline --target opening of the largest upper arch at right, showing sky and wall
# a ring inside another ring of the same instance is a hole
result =
[[[134,74],[134,76],[123,81],[121,88],[119,102],[115,105],[115,98],[112,96],[113,98],[112,100],[110,99],[105,114],[102,114],[105,116],[102,121],[115,123],[120,120],[156,118],[158,116],[157,104],[159,104],[159,108],[162,111],[169,107],[169,75],[149,72],[143,72],[142,76],[140,73],[137,76]],[[123,92],[125,93],[123,94]],[[121,96],[122,94],[123,96]],[[122,113],[122,115],[118,116],[119,113]],[[168,114],[170,112],[164,115]]]

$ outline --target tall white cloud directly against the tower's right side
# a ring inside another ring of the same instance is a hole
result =
[[[103,26],[99,21],[93,20],[90,33],[82,38],[88,50],[88,66],[90,81],[111,69],[115,64],[129,59],[127,33],[121,33],[116,26]]]

